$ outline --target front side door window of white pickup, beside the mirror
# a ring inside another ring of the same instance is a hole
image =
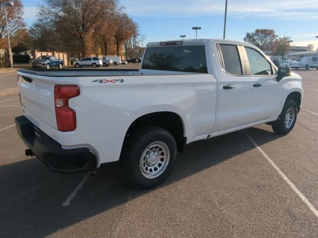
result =
[[[271,64],[256,50],[245,47],[252,75],[271,75]],[[287,62],[286,62],[287,63]]]

